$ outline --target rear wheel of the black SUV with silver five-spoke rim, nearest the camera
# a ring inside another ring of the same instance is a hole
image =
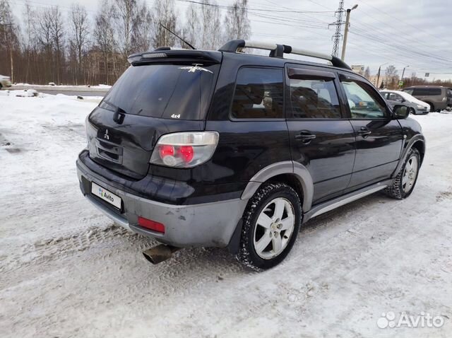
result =
[[[301,221],[301,204],[292,187],[284,183],[263,185],[244,211],[237,259],[255,270],[274,267],[292,249]]]

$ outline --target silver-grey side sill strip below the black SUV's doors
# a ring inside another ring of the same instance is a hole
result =
[[[392,185],[393,180],[385,180],[378,182],[374,185],[369,185],[369,187],[365,187],[359,189],[355,192],[350,192],[349,194],[345,194],[343,196],[337,197],[335,199],[331,199],[330,201],[323,202],[319,205],[314,206],[311,210],[309,210],[306,214],[303,215],[302,223],[306,223],[309,219],[319,216],[321,214],[325,214],[328,211],[338,208],[339,206],[343,206],[350,202],[356,201],[362,197],[365,197],[369,194],[373,194],[374,192],[378,192],[379,190],[383,190],[384,188]]]

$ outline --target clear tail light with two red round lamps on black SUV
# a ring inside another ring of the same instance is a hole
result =
[[[192,168],[208,161],[218,144],[218,132],[182,132],[160,137],[150,163]]]

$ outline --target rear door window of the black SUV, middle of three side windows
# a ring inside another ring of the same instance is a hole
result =
[[[288,118],[340,118],[338,93],[333,78],[297,75],[290,78],[290,107]]]

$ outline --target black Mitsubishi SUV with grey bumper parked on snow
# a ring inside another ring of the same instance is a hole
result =
[[[219,51],[164,47],[129,62],[87,117],[77,168],[90,202],[165,244],[148,260],[227,247],[267,269],[309,218],[379,190],[412,192],[425,151],[420,125],[336,57],[232,40]]]

